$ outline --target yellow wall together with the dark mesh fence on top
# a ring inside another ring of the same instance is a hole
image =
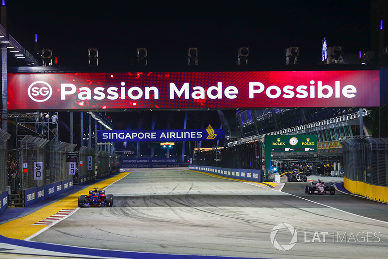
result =
[[[353,138],[341,142],[344,187],[354,194],[388,202],[388,138]]]

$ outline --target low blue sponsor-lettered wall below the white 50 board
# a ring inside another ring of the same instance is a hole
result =
[[[73,179],[68,179],[41,187],[24,190],[25,206],[49,199],[65,191],[73,189]]]

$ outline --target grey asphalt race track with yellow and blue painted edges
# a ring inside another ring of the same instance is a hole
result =
[[[340,178],[324,180],[340,187]],[[184,168],[121,173],[97,186],[114,195],[113,207],[31,225],[76,208],[85,187],[1,224],[0,257],[386,258],[387,204],[340,191],[308,195],[309,182],[281,181],[255,184]]]

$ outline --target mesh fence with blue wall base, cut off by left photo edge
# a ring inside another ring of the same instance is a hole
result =
[[[10,137],[9,133],[0,129],[0,214],[8,207],[7,141]]]

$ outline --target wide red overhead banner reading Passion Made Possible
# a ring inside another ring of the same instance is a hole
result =
[[[379,70],[8,74],[9,110],[372,107]]]

